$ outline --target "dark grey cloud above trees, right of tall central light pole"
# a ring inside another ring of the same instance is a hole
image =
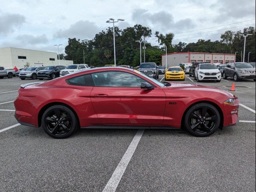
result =
[[[192,28],[193,23],[189,18],[174,21],[172,14],[166,11],[150,13],[146,9],[135,9],[132,13],[132,19],[139,24],[152,26],[156,30],[174,31]]]

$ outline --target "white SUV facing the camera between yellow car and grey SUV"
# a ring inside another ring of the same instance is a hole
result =
[[[221,72],[213,63],[198,64],[195,70],[195,80],[200,82],[202,80],[216,80],[221,81]]]

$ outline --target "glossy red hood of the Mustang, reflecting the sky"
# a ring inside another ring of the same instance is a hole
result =
[[[217,92],[220,94],[224,94],[229,98],[236,98],[233,94],[228,91],[200,84],[193,83],[171,83],[171,86],[167,87],[168,89],[180,89],[180,90],[194,90],[194,91],[207,91],[207,92]]]

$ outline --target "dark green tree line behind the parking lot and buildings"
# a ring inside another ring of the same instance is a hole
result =
[[[255,28],[248,27],[240,31],[227,30],[220,36],[220,40],[211,41],[198,39],[197,42],[185,43],[179,42],[173,44],[174,33],[161,34],[156,31],[152,35],[152,30],[148,27],[136,24],[133,27],[127,27],[124,30],[115,27],[116,39],[116,64],[138,66],[140,64],[140,44],[135,42],[143,38],[153,39],[158,42],[158,46],[152,46],[150,42],[146,42],[146,62],[155,62],[161,65],[161,55],[167,52],[209,52],[209,53],[237,53],[236,60],[241,60],[241,51],[244,49],[244,38],[240,34],[252,34],[246,39],[247,61],[248,52],[250,53],[250,62],[255,62]],[[184,36],[183,38],[186,38]],[[143,46],[143,44],[142,44]],[[73,60],[74,64],[85,63],[89,66],[104,66],[106,64],[114,64],[114,44],[113,44],[113,28],[108,27],[102,30],[91,40],[80,40],[69,38],[68,45],[65,47],[65,54],[60,54],[60,59]],[[142,62],[143,62],[142,50]]]

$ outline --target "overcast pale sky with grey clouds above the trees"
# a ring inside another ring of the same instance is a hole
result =
[[[173,43],[218,40],[225,30],[255,27],[255,0],[1,0],[0,48],[56,52],[63,44],[64,53],[68,38],[92,39],[111,26],[108,18],[125,19],[116,24],[122,29],[150,27],[154,45],[156,30],[173,32]]]

